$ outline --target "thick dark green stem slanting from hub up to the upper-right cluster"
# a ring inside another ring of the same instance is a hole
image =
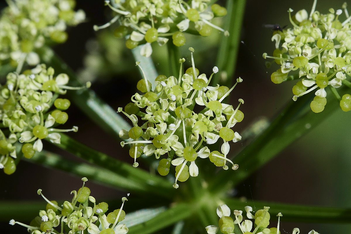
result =
[[[219,191],[227,188],[228,184],[237,185],[293,141],[330,116],[339,106],[335,99],[331,99],[323,112],[314,113],[309,108],[311,98],[309,95],[304,95],[296,102],[291,101],[271,123],[270,127],[233,159],[234,163],[239,164],[239,169],[237,171],[228,170],[216,176],[211,181],[211,190],[220,193]]]

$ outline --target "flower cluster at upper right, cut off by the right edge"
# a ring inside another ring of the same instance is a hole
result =
[[[329,88],[340,102],[343,111],[351,110],[351,95],[341,96],[337,88],[351,88],[351,17],[343,5],[346,20],[340,21],[343,10],[329,9],[328,14],[315,11],[317,1],[314,1],[310,14],[305,9],[294,16],[289,9],[289,19],[292,28],[276,31],[272,41],[276,49],[272,58],[280,68],[271,75],[274,83],[289,80],[289,74],[298,75],[298,81],[293,87],[293,100],[309,92],[316,95],[311,102],[313,112],[322,112],[326,105],[326,88]]]

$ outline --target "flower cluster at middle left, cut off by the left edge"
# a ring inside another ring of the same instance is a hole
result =
[[[23,74],[7,75],[6,84],[0,87],[0,168],[6,174],[16,170],[16,142],[23,156],[32,158],[35,152],[42,151],[43,139],[59,144],[58,132],[78,131],[76,126],[55,128],[67,121],[65,110],[71,105],[68,99],[57,98],[58,95],[65,94],[66,89],[79,89],[67,86],[68,80],[63,73],[54,76],[54,69],[44,64]],[[54,109],[50,109],[52,105]]]

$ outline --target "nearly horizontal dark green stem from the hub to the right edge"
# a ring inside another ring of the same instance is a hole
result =
[[[333,208],[302,206],[285,203],[274,203],[264,201],[240,201],[239,199],[224,199],[224,202],[231,210],[244,210],[245,206],[252,206],[256,209],[263,209],[269,206],[271,218],[276,218],[276,214],[281,212],[283,217],[280,221],[309,222],[309,223],[351,223],[350,208]],[[245,212],[245,211],[244,211]]]

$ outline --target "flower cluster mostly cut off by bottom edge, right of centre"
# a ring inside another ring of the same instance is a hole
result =
[[[220,205],[217,207],[217,215],[219,216],[218,226],[210,225],[206,227],[208,234],[216,234],[219,230],[223,234],[280,234],[279,224],[282,213],[278,213],[278,225],[277,227],[269,226],[270,220],[270,207],[264,207],[263,209],[257,210],[254,214],[251,206],[245,206],[246,217],[243,218],[242,210],[234,210],[234,218],[231,218],[230,208],[227,205]],[[251,221],[253,219],[254,221]],[[294,228],[292,234],[299,234],[300,230]],[[308,234],[318,234],[318,232],[311,230]]]

